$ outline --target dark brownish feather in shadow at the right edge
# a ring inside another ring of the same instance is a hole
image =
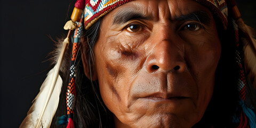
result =
[[[254,89],[256,89],[256,40],[254,30],[245,25],[240,18],[237,20],[238,27],[243,31],[245,38],[242,38],[244,43],[244,62],[246,74],[249,77]]]

